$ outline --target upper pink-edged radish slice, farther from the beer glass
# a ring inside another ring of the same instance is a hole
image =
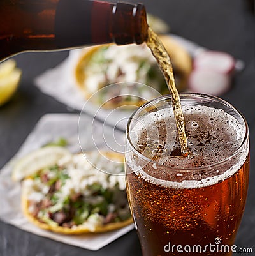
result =
[[[226,52],[204,51],[194,58],[194,69],[213,70],[231,74],[235,69],[235,59]]]

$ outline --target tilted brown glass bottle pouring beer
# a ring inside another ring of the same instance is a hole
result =
[[[142,4],[91,0],[1,0],[0,61],[18,52],[101,43],[143,43]]]

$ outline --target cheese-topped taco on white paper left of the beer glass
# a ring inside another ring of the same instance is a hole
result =
[[[106,173],[106,166],[115,175]],[[39,169],[22,181],[22,209],[34,225],[61,234],[106,232],[131,224],[122,156],[68,154]]]

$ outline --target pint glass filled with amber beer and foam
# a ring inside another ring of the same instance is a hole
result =
[[[248,188],[247,123],[214,96],[180,99],[188,157],[180,156],[171,96],[145,103],[128,122],[127,193],[142,253],[231,255]]]

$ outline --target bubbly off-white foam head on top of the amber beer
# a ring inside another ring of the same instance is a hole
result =
[[[196,105],[184,106],[183,112],[191,150],[189,158],[172,156],[180,146],[173,110],[166,108],[148,113],[133,127],[133,146],[148,160],[142,166],[129,159],[129,168],[151,183],[173,188],[209,186],[235,174],[249,151],[248,142],[242,145],[245,125],[222,109]],[[241,146],[244,149],[236,157]],[[169,180],[164,177],[164,170],[179,177]],[[193,175],[189,177],[188,173]]]

